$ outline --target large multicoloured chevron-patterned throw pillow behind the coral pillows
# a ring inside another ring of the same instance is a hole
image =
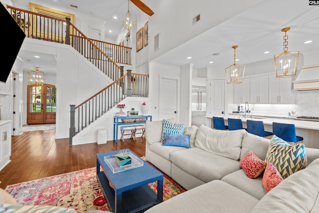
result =
[[[307,156],[304,144],[289,145],[286,141],[273,136],[266,155],[283,179],[307,167]]]

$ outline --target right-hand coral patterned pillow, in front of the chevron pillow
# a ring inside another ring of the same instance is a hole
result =
[[[272,165],[271,163],[267,164],[262,180],[262,184],[266,192],[272,190],[282,181],[283,178],[281,177],[278,170],[274,167],[274,165]]]

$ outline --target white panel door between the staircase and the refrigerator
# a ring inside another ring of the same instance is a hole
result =
[[[160,78],[160,120],[177,118],[177,79]]]

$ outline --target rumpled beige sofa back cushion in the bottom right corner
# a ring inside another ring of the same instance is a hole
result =
[[[267,193],[252,213],[318,213],[319,160],[300,170]]]

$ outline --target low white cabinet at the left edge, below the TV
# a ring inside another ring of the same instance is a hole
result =
[[[9,162],[11,156],[11,120],[0,121],[0,170]]]

